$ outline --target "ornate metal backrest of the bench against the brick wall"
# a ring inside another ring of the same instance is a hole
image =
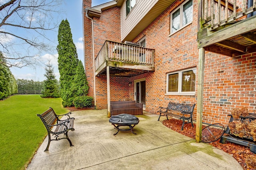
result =
[[[182,113],[193,113],[195,104],[169,102],[168,110],[180,111]]]

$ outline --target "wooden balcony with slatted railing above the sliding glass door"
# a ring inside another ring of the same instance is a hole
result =
[[[105,41],[95,59],[95,75],[106,74],[107,66],[110,76],[132,77],[153,72],[154,49]]]

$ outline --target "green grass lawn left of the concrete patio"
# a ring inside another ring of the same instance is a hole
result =
[[[47,135],[36,114],[52,107],[64,114],[61,98],[41,98],[39,95],[15,95],[0,101],[0,162],[1,170],[22,170]]]

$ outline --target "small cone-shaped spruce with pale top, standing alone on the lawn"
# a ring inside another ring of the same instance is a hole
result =
[[[60,91],[58,80],[55,78],[54,68],[50,61],[48,61],[48,64],[46,65],[44,76],[46,77],[46,80],[44,80],[43,90],[40,96],[42,98],[59,98]]]

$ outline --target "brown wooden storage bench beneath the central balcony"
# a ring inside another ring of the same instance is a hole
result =
[[[110,115],[142,115],[142,103],[133,101],[110,101]]]

